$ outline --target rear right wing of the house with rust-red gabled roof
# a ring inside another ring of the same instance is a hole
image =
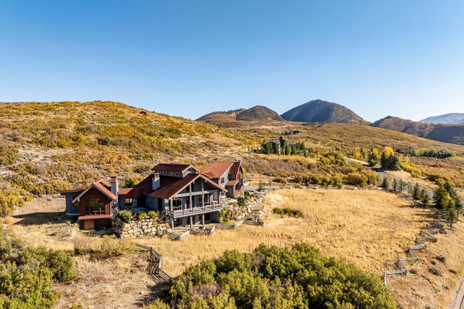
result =
[[[200,173],[222,188],[226,188],[227,196],[238,196],[243,193],[241,162],[216,162],[201,168]]]

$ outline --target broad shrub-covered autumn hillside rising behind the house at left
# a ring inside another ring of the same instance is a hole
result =
[[[0,178],[34,192],[37,183],[81,188],[110,173],[153,163],[241,158],[253,138],[207,123],[108,101],[0,103]]]

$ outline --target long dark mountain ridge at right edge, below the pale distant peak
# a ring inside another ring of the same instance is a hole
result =
[[[464,145],[464,125],[425,123],[387,116],[375,121],[372,126],[408,133],[414,136]]]

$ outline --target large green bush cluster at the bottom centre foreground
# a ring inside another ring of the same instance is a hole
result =
[[[396,308],[377,275],[301,243],[226,251],[187,268],[169,292],[172,308]],[[151,309],[170,308],[157,300]]]

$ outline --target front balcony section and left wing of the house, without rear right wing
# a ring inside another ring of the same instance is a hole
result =
[[[160,163],[152,171],[133,188],[118,188],[118,179],[112,176],[111,183],[101,179],[84,191],[63,191],[66,213],[79,213],[84,230],[110,227],[119,208],[165,213],[172,229],[219,221],[224,186],[189,164]]]

